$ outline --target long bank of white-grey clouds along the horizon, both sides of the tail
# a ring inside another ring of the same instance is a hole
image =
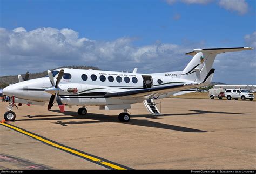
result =
[[[245,35],[245,46],[255,46],[255,34]],[[0,28],[0,76],[26,71],[36,73],[66,65],[95,66],[113,71],[132,71],[138,67],[138,72],[143,73],[178,71],[183,70],[192,58],[185,53],[195,48],[207,48],[205,42],[200,41],[185,46],[160,41],[135,46],[134,40],[136,38],[132,37],[91,40],[79,37],[78,32],[68,28],[48,27],[32,31],[22,27],[14,30]],[[252,79],[256,83],[255,59],[255,50],[218,55],[214,80],[232,83],[239,79],[242,83]]]

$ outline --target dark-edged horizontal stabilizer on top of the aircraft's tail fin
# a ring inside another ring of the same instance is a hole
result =
[[[196,55],[199,52],[206,52],[209,54],[220,54],[225,52],[238,52],[242,50],[252,50],[251,47],[236,47],[236,48],[204,48],[204,49],[194,49],[193,52],[186,53],[186,55]]]

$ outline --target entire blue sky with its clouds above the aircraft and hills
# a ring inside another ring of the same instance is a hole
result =
[[[186,57],[184,53],[194,48],[256,45],[254,0],[0,0],[0,6],[0,43],[6,45],[0,49],[0,76],[21,74],[27,70],[32,73],[67,64],[120,71],[132,71],[138,67],[140,72]],[[19,30],[14,32],[15,28]],[[17,36],[17,31],[23,32],[22,39]],[[66,41],[69,38],[64,50],[73,52],[64,54],[59,42],[50,37],[53,33],[62,33]],[[67,33],[69,37],[65,35]],[[16,37],[11,40],[12,47],[8,35]],[[53,50],[55,47],[58,49]],[[159,52],[159,49],[163,51]],[[213,81],[256,84],[255,50],[220,57],[214,63]],[[10,70],[15,60],[19,62],[17,68]],[[183,70],[189,60],[188,56],[186,60],[145,73]],[[227,70],[226,66],[231,66],[233,61],[247,62],[250,66],[239,63],[240,73],[233,67]],[[229,74],[230,78],[224,79],[222,73]],[[244,77],[241,73],[247,74],[248,78],[238,80],[237,77]]]

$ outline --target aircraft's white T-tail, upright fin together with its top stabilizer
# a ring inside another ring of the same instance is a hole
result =
[[[194,57],[187,64],[180,78],[198,83],[210,83],[214,73],[212,65],[217,54],[251,49],[251,47],[194,49],[193,52],[186,53]]]

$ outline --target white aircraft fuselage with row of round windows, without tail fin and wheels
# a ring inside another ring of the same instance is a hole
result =
[[[57,73],[56,69],[55,81]],[[139,74],[128,72],[114,72],[102,70],[82,70],[64,68],[64,75],[59,83],[59,95],[64,104],[67,105],[113,105],[113,104],[132,104],[142,102],[143,99],[113,99],[105,98],[105,93],[123,92],[127,90],[138,90],[143,88],[154,88],[159,86],[172,86],[191,83],[185,79],[179,79],[180,72]],[[45,92],[52,85],[48,77],[31,79],[10,85],[4,89],[4,94],[14,95],[17,99],[24,99],[37,102],[48,102],[50,93]],[[68,88],[77,88],[78,92],[72,94],[67,92]],[[83,92],[85,91],[85,92]],[[157,96],[158,99],[170,96],[166,93]]]

